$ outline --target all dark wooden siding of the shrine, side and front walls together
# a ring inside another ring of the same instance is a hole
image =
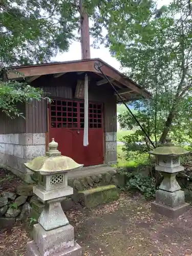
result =
[[[53,75],[41,76],[32,82],[32,86],[42,88],[46,96],[50,98],[72,99],[75,94],[77,78],[83,79],[84,74],[78,76],[74,74],[65,74],[58,78]],[[116,97],[109,84],[96,86],[94,78],[89,83],[89,100],[104,103],[104,131],[116,132],[117,113]],[[13,133],[46,133],[48,131],[48,113],[45,100],[32,103],[19,104],[20,112],[24,113],[26,119],[16,117],[10,119],[5,113],[0,113],[0,134]]]

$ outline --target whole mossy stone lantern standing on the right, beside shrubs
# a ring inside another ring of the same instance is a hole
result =
[[[158,164],[155,166],[163,175],[159,189],[156,191],[156,200],[152,202],[152,211],[158,214],[177,218],[182,215],[189,204],[185,203],[184,191],[176,180],[176,175],[184,170],[180,165],[180,156],[188,154],[180,146],[175,146],[170,138],[166,143],[160,144],[150,154],[157,156]]]

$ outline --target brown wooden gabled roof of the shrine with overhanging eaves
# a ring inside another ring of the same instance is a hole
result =
[[[118,93],[125,100],[131,100],[138,97],[151,97],[151,94],[140,87],[136,82],[129,77],[125,77],[118,70],[99,58],[15,66],[11,67],[11,71],[8,73],[8,78],[18,79],[25,76],[32,81],[39,76],[48,74],[57,74],[58,77],[68,72],[93,72],[101,78],[100,81],[97,82],[97,85],[104,86],[104,83],[108,83],[108,81],[106,81],[100,71],[95,69],[94,64],[96,62],[100,63],[102,72],[111,80],[113,85],[117,88]],[[19,72],[20,75],[16,74],[15,71]]]

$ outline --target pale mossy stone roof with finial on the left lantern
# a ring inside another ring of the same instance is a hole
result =
[[[72,158],[61,156],[57,150],[58,143],[52,139],[49,143],[49,152],[45,156],[34,158],[29,163],[24,163],[25,166],[33,172],[39,172],[41,175],[51,175],[60,172],[69,172],[70,170],[77,169],[83,164],[76,163]]]

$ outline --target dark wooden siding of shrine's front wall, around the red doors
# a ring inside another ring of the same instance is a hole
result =
[[[82,75],[82,78],[84,75]],[[78,77],[79,78],[79,77]],[[80,78],[81,79],[81,78]],[[73,99],[77,84],[77,76],[65,74],[58,78],[52,75],[42,76],[32,82],[35,87],[42,88],[46,96],[50,98]],[[89,83],[89,100],[104,103],[104,131],[117,131],[116,97],[109,84],[96,86],[95,80]],[[48,110],[49,111],[49,110]],[[40,119],[40,120],[39,120]],[[47,132],[47,113],[45,101],[34,101],[32,105],[26,106],[26,132],[45,133]]]

